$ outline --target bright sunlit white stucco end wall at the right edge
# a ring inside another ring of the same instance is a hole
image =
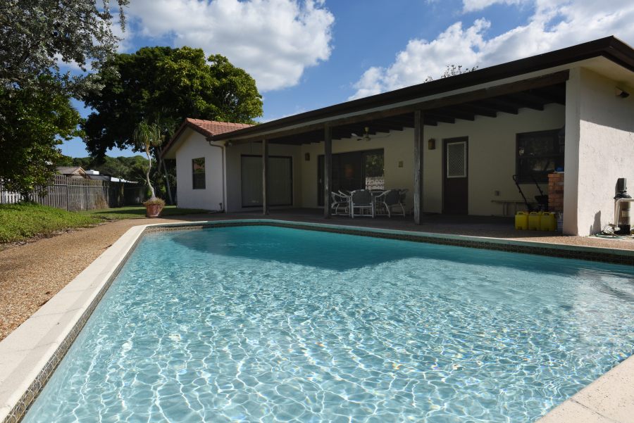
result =
[[[564,233],[588,235],[614,222],[616,179],[634,191],[634,89],[584,68],[571,70],[566,115]],[[570,165],[568,165],[570,164]]]

